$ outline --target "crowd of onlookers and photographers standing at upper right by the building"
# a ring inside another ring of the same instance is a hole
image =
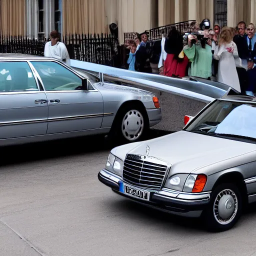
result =
[[[216,80],[242,94],[256,93],[256,34],[253,23],[240,21],[236,27],[214,24],[210,20],[191,22],[181,34],[172,28],[162,35],[159,47],[146,32],[125,41],[129,49],[128,69],[154,72],[171,77],[195,76]],[[154,71],[157,63],[157,71]]]

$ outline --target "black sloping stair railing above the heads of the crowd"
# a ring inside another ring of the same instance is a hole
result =
[[[189,30],[190,23],[192,21],[195,21],[195,20],[187,20],[187,21],[182,21],[182,22],[178,22],[178,23],[174,23],[174,24],[169,24],[166,26],[159,26],[159,27],[155,27],[155,28],[152,28],[149,30],[145,30],[145,32],[147,32],[149,40],[161,39],[162,34],[167,35],[168,32],[173,27],[178,29],[181,33],[187,32]],[[124,41],[127,39],[134,38],[135,34],[136,34],[135,32],[124,33]]]

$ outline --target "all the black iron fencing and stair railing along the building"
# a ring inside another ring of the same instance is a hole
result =
[[[174,23],[146,30],[150,41],[161,39],[171,28],[181,33],[189,30],[193,20]],[[134,38],[135,33],[124,33],[124,39]],[[43,56],[44,45],[49,38],[31,39],[23,36],[0,36],[0,53],[21,53]],[[114,34],[73,34],[62,37],[70,58],[103,65],[125,68],[128,50],[118,45]]]

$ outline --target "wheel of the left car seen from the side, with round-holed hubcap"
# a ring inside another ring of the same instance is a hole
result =
[[[121,143],[142,140],[149,130],[145,109],[139,106],[124,106],[113,122],[111,137]]]

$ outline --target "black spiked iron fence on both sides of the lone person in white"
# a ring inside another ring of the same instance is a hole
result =
[[[0,37],[1,53],[21,53],[43,56],[48,38],[31,39],[23,36]],[[62,38],[72,59],[117,66],[118,40],[111,34],[75,34]]]

